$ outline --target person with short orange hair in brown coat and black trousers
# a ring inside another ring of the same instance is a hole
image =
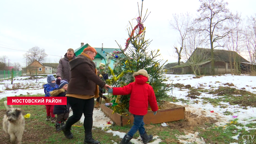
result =
[[[99,97],[99,87],[112,89],[102,81],[96,71],[94,57],[97,51],[93,47],[87,47],[78,57],[69,62],[71,79],[67,90],[67,101],[70,104],[73,115],[68,118],[61,127],[65,137],[73,138],[70,129],[73,124],[80,120],[84,114],[84,144],[99,144],[92,138],[94,97]],[[99,87],[98,87],[99,86]]]

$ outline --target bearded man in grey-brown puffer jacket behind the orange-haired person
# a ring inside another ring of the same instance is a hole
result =
[[[65,79],[69,82],[71,79],[71,72],[69,69],[69,61],[74,60],[76,58],[76,55],[74,53],[74,49],[69,48],[67,53],[63,58],[60,59],[59,65],[57,67],[57,79]]]

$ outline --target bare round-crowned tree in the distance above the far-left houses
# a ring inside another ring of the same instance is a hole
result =
[[[33,63],[33,61],[37,60],[39,63],[44,62],[47,54],[45,53],[45,49],[41,49],[37,46],[30,48],[28,52],[24,54],[25,59],[27,59],[28,65]]]

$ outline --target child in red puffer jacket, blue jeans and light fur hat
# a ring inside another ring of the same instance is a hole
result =
[[[158,110],[154,90],[151,85],[147,83],[150,77],[145,69],[140,69],[138,72],[133,73],[133,77],[135,77],[135,82],[124,87],[108,89],[108,92],[113,92],[113,95],[131,94],[129,112],[133,114],[134,122],[131,130],[124,136],[119,144],[131,144],[130,140],[138,130],[144,144],[147,144],[153,139],[152,135],[147,135],[143,122],[143,117],[148,111],[148,102],[154,115]]]

